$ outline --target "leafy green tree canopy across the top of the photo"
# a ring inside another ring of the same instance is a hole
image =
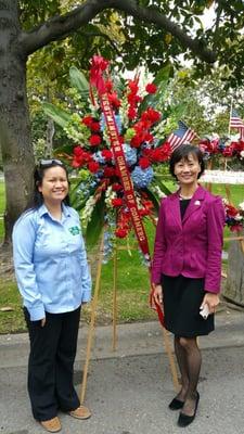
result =
[[[22,0],[20,16],[24,29],[36,37],[46,29],[43,23],[61,25],[70,17],[75,22],[89,8],[91,20],[69,36],[56,33],[52,40],[57,41],[39,51],[38,60],[33,55],[30,64],[44,65],[51,82],[57,79],[62,85],[70,64],[87,69],[95,52],[114,60],[120,69],[145,64],[155,73],[169,61],[179,67],[183,60],[193,62],[195,77],[215,65],[232,87],[244,78],[242,0]],[[215,20],[204,26],[203,14],[210,8]]]

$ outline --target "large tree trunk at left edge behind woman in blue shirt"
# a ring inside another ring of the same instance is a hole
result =
[[[34,152],[26,97],[26,56],[18,43],[20,34],[17,1],[1,1],[0,145],[7,197],[4,243],[10,243],[13,224],[33,191]]]

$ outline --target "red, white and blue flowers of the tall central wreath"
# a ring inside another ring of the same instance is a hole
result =
[[[103,69],[105,66],[106,65],[103,64],[101,60],[101,62],[92,68],[91,81],[97,80],[95,82],[98,85],[99,69]],[[155,148],[155,142],[157,142],[157,140],[155,140],[153,136],[153,127],[160,120],[160,113],[151,106],[146,107],[142,113],[139,112],[142,97],[139,93],[139,77],[136,77],[133,80],[128,81],[125,93],[127,100],[127,122],[125,125],[121,125],[121,120],[125,118],[125,112],[123,112],[123,115],[120,116],[121,102],[117,92],[114,90],[113,82],[107,79],[105,82],[103,81],[103,84],[100,85],[103,86],[103,90],[105,88],[108,101],[114,111],[115,122],[117,123],[117,128],[120,135],[118,139],[121,144],[126,143],[125,156],[128,162],[128,171],[132,174],[134,170],[137,174],[136,168],[138,166],[138,168],[140,167],[141,173],[142,170],[145,170],[145,174],[150,174],[151,170],[147,169],[152,164],[167,161],[171,153],[168,143],[163,143]],[[156,90],[156,86],[152,82],[145,86],[145,91],[147,93],[153,94]],[[125,105],[123,104],[123,107]],[[93,113],[95,113],[95,111]],[[95,175],[92,180],[93,187],[91,193],[94,194],[94,196],[95,194],[100,196],[102,191],[112,187],[114,197],[108,203],[114,208],[114,216],[116,219],[115,234],[118,238],[126,238],[132,228],[131,215],[126,204],[120,174],[115,166],[114,155],[107,142],[106,131],[104,133],[104,117],[101,115],[101,110],[99,108],[97,111],[97,115],[84,116],[80,122],[88,129],[88,133],[86,133],[88,139],[86,143],[74,148],[73,167],[86,167],[91,174]],[[134,135],[131,133],[131,130],[134,130]],[[130,139],[127,137],[130,137]],[[131,152],[128,150],[128,145],[131,148]],[[129,163],[130,161],[132,163]],[[140,174],[140,170],[138,173]],[[142,173],[142,177],[143,176],[144,174]],[[91,177],[89,177],[89,180],[91,180]],[[94,186],[97,186],[95,189]],[[140,189],[138,188],[138,191]],[[140,216],[142,218],[145,216],[152,217],[154,208],[153,203],[143,191],[140,191],[139,197]]]

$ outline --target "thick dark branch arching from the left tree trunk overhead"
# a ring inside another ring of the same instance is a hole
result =
[[[216,62],[217,54],[205,47],[202,40],[191,38],[167,16],[156,10],[140,7],[136,0],[87,0],[72,12],[55,16],[30,33],[23,33],[21,39],[25,54],[31,54],[51,41],[67,37],[88,24],[100,12],[112,8],[132,15],[145,24],[152,23],[164,28],[175,36],[183,48],[190,49],[201,60],[207,63]]]

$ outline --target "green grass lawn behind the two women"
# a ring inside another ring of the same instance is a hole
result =
[[[170,186],[171,187],[171,186]],[[213,186],[213,192],[226,196],[223,186]],[[243,186],[232,186],[231,195],[233,203],[237,205],[244,201]],[[4,184],[0,182],[0,215],[4,210]],[[146,225],[146,232],[152,252],[155,229],[151,224]],[[2,220],[0,220],[0,238],[3,233]],[[224,235],[231,235],[228,228]],[[133,250],[132,246],[136,246]],[[119,248],[123,247],[124,250]],[[141,264],[137,241],[130,239],[130,254],[125,250],[125,242],[118,241],[117,251],[117,318],[118,322],[155,319],[156,314],[149,308],[149,271]],[[228,242],[224,243],[224,250]],[[224,264],[226,267],[226,264]],[[102,267],[101,289],[99,296],[97,321],[111,323],[113,301],[113,260]],[[93,280],[94,281],[94,280]],[[25,331],[25,322],[22,314],[21,296],[13,278],[0,277],[0,309],[11,307],[12,311],[0,311],[0,333]],[[91,306],[84,308],[82,318],[89,321]]]

